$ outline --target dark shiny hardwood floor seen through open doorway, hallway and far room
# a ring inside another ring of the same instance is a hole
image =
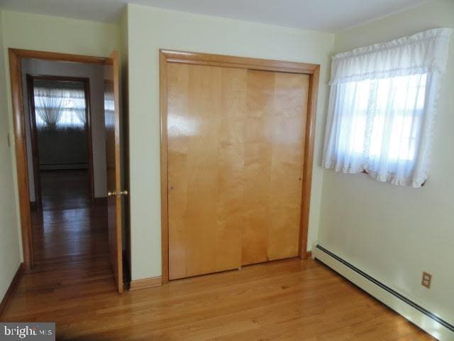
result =
[[[87,171],[41,171],[43,212],[32,212],[33,255],[39,264],[109,251],[107,207],[92,205]]]

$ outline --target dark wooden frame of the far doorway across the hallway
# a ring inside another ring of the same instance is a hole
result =
[[[92,145],[92,108],[90,100],[90,79],[89,77],[70,77],[57,75],[35,75],[26,74],[28,92],[28,120],[31,131],[31,151],[33,158],[33,182],[35,187],[35,203],[38,210],[43,210],[43,197],[41,196],[41,179],[38,152],[38,129],[35,119],[35,98],[33,96],[35,80],[50,80],[55,82],[77,82],[84,86],[85,100],[85,124],[84,131],[87,134],[87,172],[88,172],[88,193],[90,202],[94,201],[94,175],[93,175],[93,145]]]

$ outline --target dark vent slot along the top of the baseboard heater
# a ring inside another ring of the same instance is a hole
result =
[[[426,308],[423,308],[421,307],[421,305],[417,304],[417,303],[414,303],[413,301],[411,301],[409,298],[406,298],[405,296],[403,296],[402,294],[398,293],[397,291],[394,291],[392,288],[389,288],[389,286],[386,286],[384,285],[382,282],[378,281],[377,279],[373,278],[372,276],[366,274],[364,271],[361,271],[360,269],[358,269],[356,266],[354,266],[353,264],[350,264],[348,263],[348,261],[345,261],[344,259],[342,259],[341,257],[339,257],[338,255],[336,254],[333,254],[333,252],[325,249],[324,247],[322,247],[321,245],[317,244],[316,245],[316,249],[319,249],[320,251],[323,251],[325,254],[328,254],[328,256],[331,256],[333,259],[336,259],[336,261],[339,261],[341,262],[343,265],[347,266],[349,269],[355,271],[357,274],[359,274],[360,276],[366,278],[368,281],[371,281],[372,283],[374,283],[376,286],[379,286],[380,288],[382,288],[384,291],[387,291],[388,293],[392,294],[393,296],[395,296],[396,298],[399,298],[399,300],[403,301],[404,303],[408,304],[408,305],[411,305],[411,307],[415,308],[416,310],[418,310],[420,313],[423,313],[424,315],[426,315],[428,318],[431,318],[432,320],[436,321],[437,323],[440,323],[441,325],[443,325],[443,327],[447,328],[448,330],[450,330],[451,332],[454,332],[454,325],[451,325],[450,323],[446,322],[445,320],[443,320],[442,318],[438,317],[437,315],[435,315],[434,313],[431,313],[431,311],[427,310]],[[315,256],[314,258],[317,259],[317,256]],[[319,261],[322,261],[322,259],[319,259]]]

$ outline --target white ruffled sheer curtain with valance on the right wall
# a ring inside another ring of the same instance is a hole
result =
[[[451,31],[436,28],[333,56],[324,168],[421,186]]]

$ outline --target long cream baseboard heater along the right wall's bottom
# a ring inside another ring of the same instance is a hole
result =
[[[389,288],[340,256],[319,244],[315,244],[312,248],[312,256],[438,340],[454,340],[454,325]]]

